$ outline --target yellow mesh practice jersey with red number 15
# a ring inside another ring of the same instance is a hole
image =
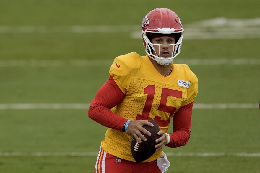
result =
[[[111,111],[129,120],[155,119],[160,130],[167,132],[170,119],[178,109],[194,101],[198,93],[198,79],[186,64],[171,64],[171,74],[164,77],[153,66],[148,55],[129,53],[116,57],[109,75],[121,88],[125,97]],[[135,162],[131,154],[131,135],[108,128],[102,148],[121,159]],[[150,162],[163,154],[156,151]]]

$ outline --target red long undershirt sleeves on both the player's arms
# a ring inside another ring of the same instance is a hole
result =
[[[123,131],[122,127],[127,119],[116,115],[110,109],[118,105],[124,96],[113,78],[109,78],[90,104],[88,116],[103,126]],[[190,138],[192,106],[193,102],[182,106],[174,114],[173,132],[168,133],[171,140],[166,146],[175,148],[187,144]]]

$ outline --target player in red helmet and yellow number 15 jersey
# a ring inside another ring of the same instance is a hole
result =
[[[114,59],[109,79],[98,90],[88,116],[108,127],[101,142],[95,172],[161,173],[169,162],[163,147],[180,147],[190,137],[191,113],[198,93],[198,79],[186,64],[174,64],[180,53],[183,27],[178,15],[166,8],[150,11],[142,21],[146,56],[135,52]],[[173,130],[168,130],[173,118]],[[157,121],[162,135],[156,140],[156,152],[136,162],[130,142],[147,139],[151,133],[143,125]],[[163,158],[163,159],[162,159]],[[166,166],[162,166],[163,163]]]

